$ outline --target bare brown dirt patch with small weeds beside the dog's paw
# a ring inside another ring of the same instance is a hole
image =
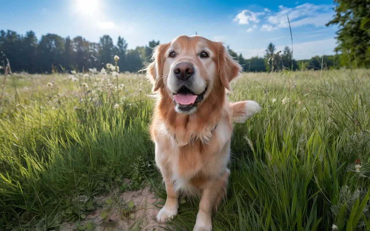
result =
[[[162,226],[155,220],[159,208],[155,205],[162,199],[149,186],[136,191],[125,191],[96,197],[97,203],[104,205],[85,217],[80,222],[66,225],[61,230],[95,230],[95,231],[161,231]],[[160,205],[161,207],[161,205]],[[103,218],[104,217],[104,218]]]

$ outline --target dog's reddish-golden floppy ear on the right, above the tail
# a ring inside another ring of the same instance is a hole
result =
[[[237,77],[241,70],[242,67],[239,62],[233,60],[227,48],[221,44],[219,47],[218,73],[222,85],[231,91],[230,81]]]

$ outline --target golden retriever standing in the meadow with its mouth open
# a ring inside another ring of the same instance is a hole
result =
[[[146,71],[157,99],[150,132],[167,193],[157,221],[176,216],[180,192],[198,194],[194,231],[211,231],[230,174],[232,124],[260,106],[227,101],[226,89],[242,68],[221,42],[180,35],[155,47],[152,60]]]

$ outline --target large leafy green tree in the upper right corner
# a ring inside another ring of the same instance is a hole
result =
[[[370,67],[370,1],[334,0],[336,14],[326,25],[339,25],[336,32],[342,51],[342,64],[357,62],[358,66]]]

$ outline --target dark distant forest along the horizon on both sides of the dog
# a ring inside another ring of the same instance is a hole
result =
[[[137,72],[145,63],[150,62],[153,48],[159,41],[149,41],[148,45],[128,49],[126,40],[118,37],[117,44],[113,43],[109,35],[103,35],[99,43],[92,43],[81,36],[73,39],[63,38],[57,34],[43,35],[40,41],[33,31],[26,35],[17,34],[11,30],[0,31],[0,62],[6,63],[9,59],[13,72],[25,71],[28,73],[55,73],[87,71],[87,68],[104,67],[108,62],[113,63],[114,55],[120,60],[118,66],[120,71]],[[324,57],[313,57],[310,60],[293,60],[289,47],[268,63],[268,58],[275,54],[275,45],[270,43],[266,48],[264,57],[243,58],[229,48],[230,54],[238,60],[246,72],[279,71],[283,67],[294,70],[339,68],[340,56],[329,55]],[[0,63],[0,65],[3,65]],[[2,70],[0,70],[2,71]]]

